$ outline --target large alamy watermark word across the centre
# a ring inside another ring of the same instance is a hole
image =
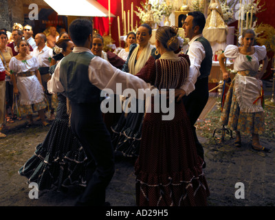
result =
[[[151,99],[154,98],[154,113],[168,113],[162,115],[162,120],[173,120],[175,117],[175,89],[138,89],[136,94],[134,89],[124,89],[122,91],[122,84],[117,83],[115,87],[116,91],[112,89],[103,89],[101,91],[101,97],[105,98],[101,104],[100,109],[102,113],[151,113]],[[116,96],[115,96],[116,95]],[[126,97],[126,100],[122,103],[120,96]],[[145,102],[145,106],[144,106]],[[138,108],[137,108],[138,104]],[[168,104],[168,106],[167,106]]]

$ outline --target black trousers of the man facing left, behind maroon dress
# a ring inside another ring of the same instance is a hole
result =
[[[199,115],[203,111],[204,107],[209,98],[209,91],[208,91],[208,77],[198,79],[197,83],[195,83],[195,90],[192,91],[188,96],[184,96],[184,107],[186,109],[187,115],[190,119],[192,130],[195,137],[196,147],[197,147],[197,154],[204,159],[203,155],[203,146],[199,143],[196,133],[195,123],[199,118]]]

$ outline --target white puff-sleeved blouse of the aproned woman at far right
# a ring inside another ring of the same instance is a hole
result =
[[[258,72],[260,65],[259,61],[265,58],[267,52],[265,46],[254,46],[254,48],[254,54],[247,56],[241,54],[236,45],[228,45],[225,48],[224,56],[234,59],[234,70],[236,71],[253,70],[254,72]]]

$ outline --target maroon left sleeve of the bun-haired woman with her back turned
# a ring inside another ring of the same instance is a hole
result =
[[[153,85],[155,83],[155,75],[155,58],[153,56],[150,56],[144,67],[142,67],[142,69],[140,69],[140,72],[138,72],[135,76],[142,78],[142,80],[144,80],[146,83],[151,83]]]

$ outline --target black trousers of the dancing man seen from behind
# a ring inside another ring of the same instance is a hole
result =
[[[87,187],[78,197],[76,206],[104,206],[106,188],[115,172],[115,163],[111,137],[102,118],[100,102],[72,103],[71,126],[89,159]]]

